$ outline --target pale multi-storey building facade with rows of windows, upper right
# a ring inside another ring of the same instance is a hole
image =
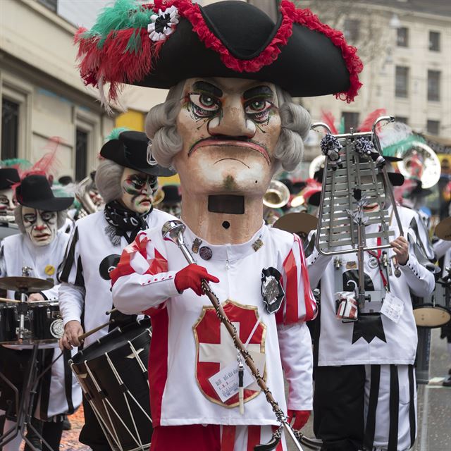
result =
[[[451,3],[443,0],[299,2],[359,49],[364,84],[352,104],[302,99],[314,121],[333,113],[345,130],[383,108],[414,131],[451,137]]]

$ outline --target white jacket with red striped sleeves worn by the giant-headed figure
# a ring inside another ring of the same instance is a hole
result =
[[[187,228],[189,249],[195,239]],[[256,240],[263,246],[253,247]],[[290,384],[288,408],[311,409],[311,338],[304,321],[314,318],[316,304],[299,239],[262,226],[244,244],[202,246],[211,249],[211,259],[198,254],[194,258],[219,278],[211,288],[254,361],[261,359],[259,368],[280,407],[286,409],[283,366]],[[227,367],[236,368],[237,351],[208,297],[175,288],[175,274],[185,266],[180,249],[164,241],[161,228],[156,228],[137,235],[112,275],[116,307],[152,316],[149,383],[154,426],[278,424],[256,383],[245,386],[243,415],[237,395],[221,400],[215,392],[209,379]],[[261,294],[261,271],[268,267],[280,271],[285,289],[276,314],[268,313]]]

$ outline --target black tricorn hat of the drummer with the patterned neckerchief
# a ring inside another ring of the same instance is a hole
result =
[[[163,168],[156,163],[147,163],[147,147],[149,138],[144,132],[132,130],[122,132],[118,139],[109,140],[100,149],[100,154],[106,159],[112,160],[125,168],[135,169],[149,175],[168,177],[175,171]]]

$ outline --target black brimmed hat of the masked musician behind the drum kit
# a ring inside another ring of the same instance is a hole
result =
[[[66,210],[73,204],[73,197],[55,197],[45,175],[27,175],[16,188],[20,205],[45,211]]]

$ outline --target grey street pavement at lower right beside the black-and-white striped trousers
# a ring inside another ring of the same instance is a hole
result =
[[[440,340],[440,329],[433,329],[429,366],[431,381],[428,385],[419,385],[418,435],[412,451],[451,451],[451,388],[442,386],[449,369],[451,358],[446,340]],[[312,416],[302,432],[307,437],[314,437]],[[302,449],[308,451],[305,446]],[[288,451],[296,450],[295,445],[288,443]]]

